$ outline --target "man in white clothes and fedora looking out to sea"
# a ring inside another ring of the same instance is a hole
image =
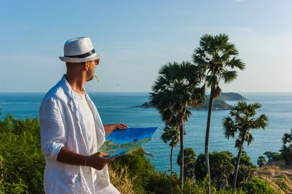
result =
[[[105,135],[126,129],[123,123],[103,125],[83,88],[93,79],[100,54],[88,37],[64,46],[67,73],[45,95],[39,108],[42,152],[46,159],[46,194],[120,194],[110,184],[107,164],[113,158],[97,152]]]

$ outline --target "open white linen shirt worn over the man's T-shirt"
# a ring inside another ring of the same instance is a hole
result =
[[[96,107],[83,88],[92,111],[97,144],[105,141],[105,130]],[[73,152],[90,155],[85,117],[76,94],[63,76],[45,95],[39,107],[42,153],[46,159],[44,191],[46,194],[94,194],[92,169],[88,166],[70,165],[57,161],[62,146]],[[96,172],[97,173],[97,172]],[[108,167],[101,172],[108,185]]]

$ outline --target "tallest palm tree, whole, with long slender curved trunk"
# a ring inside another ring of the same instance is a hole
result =
[[[244,63],[237,58],[237,55],[238,51],[235,44],[229,42],[229,37],[226,34],[202,35],[200,45],[192,55],[193,62],[198,65],[198,69],[206,72],[205,83],[208,88],[211,88],[205,139],[205,162],[209,182],[207,194],[210,194],[211,189],[208,153],[213,100],[221,94],[220,80],[223,80],[225,84],[229,84],[237,78],[237,72],[229,71],[228,69],[245,69]]]

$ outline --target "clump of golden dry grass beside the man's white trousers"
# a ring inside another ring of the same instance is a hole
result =
[[[134,180],[136,177],[129,177],[128,168],[121,168],[121,172],[117,172],[109,168],[110,183],[121,194],[135,194],[133,190]]]

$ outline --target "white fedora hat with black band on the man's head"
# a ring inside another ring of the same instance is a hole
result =
[[[79,37],[67,40],[64,45],[64,56],[59,58],[65,62],[80,63],[101,57],[103,55],[95,53],[89,37]]]

